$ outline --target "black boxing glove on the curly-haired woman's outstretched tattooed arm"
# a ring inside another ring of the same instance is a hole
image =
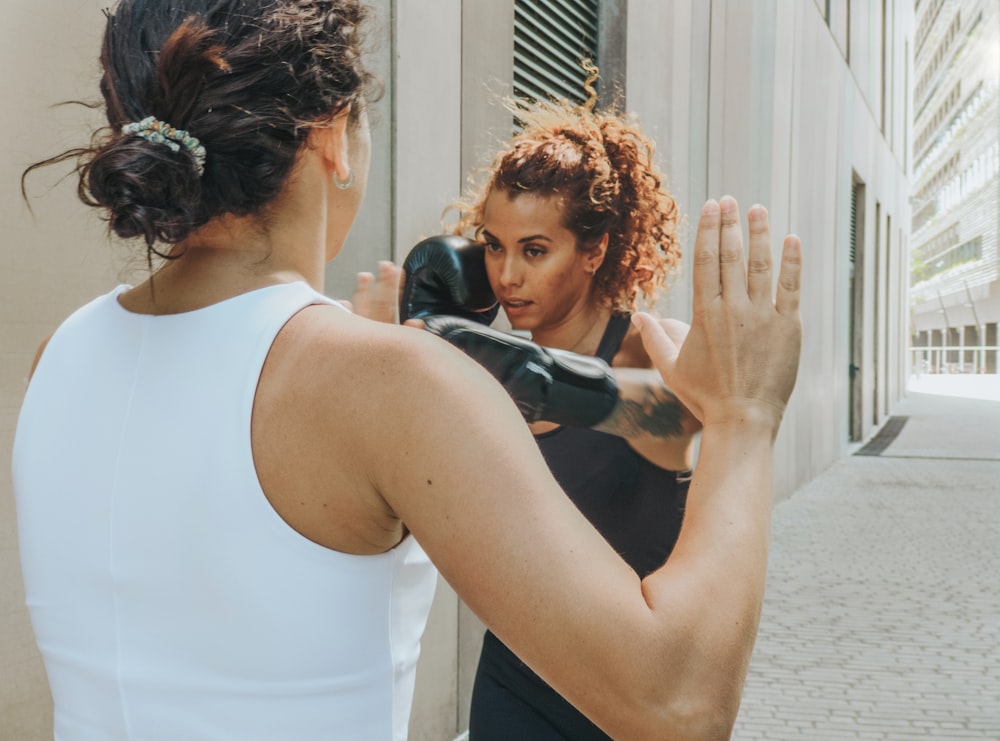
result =
[[[593,427],[618,403],[611,366],[554,350],[455,316],[429,316],[426,328],[493,374],[528,422]]]

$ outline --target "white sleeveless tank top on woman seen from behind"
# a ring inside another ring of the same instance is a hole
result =
[[[275,335],[330,300],[293,283],[146,316],[126,289],[52,337],[14,443],[56,739],[405,739],[433,566],[412,537],[376,556],[306,539],[251,453]]]

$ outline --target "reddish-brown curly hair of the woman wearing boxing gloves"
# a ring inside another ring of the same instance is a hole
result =
[[[604,263],[594,276],[598,299],[613,310],[634,311],[640,293],[647,304],[655,302],[680,263],[679,210],[653,161],[653,141],[635,116],[617,106],[595,110],[598,71],[583,66],[590,73],[583,105],[504,100],[523,129],[479,171],[487,173],[485,183],[453,204],[458,221],[451,230],[478,236],[494,191],[558,194],[565,200],[564,226],[576,235],[578,249],[608,235]]]

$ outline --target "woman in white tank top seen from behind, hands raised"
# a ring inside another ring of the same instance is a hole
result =
[[[748,281],[733,259],[735,202],[710,201],[683,352],[638,319],[705,425],[675,555],[640,582],[485,371],[322,294],[368,173],[365,15],[122,0],[108,17],[109,129],[67,156],[159,267],[55,331],[19,418],[56,737],[404,739],[431,561],[610,735],[725,735],[797,366],[798,243],[775,302],[770,267]],[[769,266],[763,209],[749,251]]]

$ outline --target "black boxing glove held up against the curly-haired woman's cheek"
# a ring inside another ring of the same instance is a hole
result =
[[[485,245],[443,234],[417,244],[403,261],[399,321],[449,314],[489,324],[500,304],[486,277]]]

